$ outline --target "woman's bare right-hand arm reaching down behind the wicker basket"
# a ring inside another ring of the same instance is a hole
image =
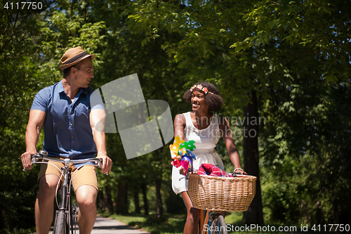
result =
[[[241,172],[241,174],[246,174],[246,172],[241,169],[239,152],[237,150],[237,146],[235,146],[234,144],[234,139],[232,136],[232,131],[230,130],[229,122],[227,119],[225,119],[225,117],[219,117],[219,128],[222,133],[225,146],[227,147],[230,160],[232,161],[232,164],[234,164],[234,168],[236,169],[234,172]]]

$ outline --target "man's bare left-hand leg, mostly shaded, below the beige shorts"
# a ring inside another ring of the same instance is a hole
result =
[[[53,201],[55,198],[58,176],[48,174],[39,179],[39,192],[35,202],[35,225],[37,234],[48,234],[53,221]]]

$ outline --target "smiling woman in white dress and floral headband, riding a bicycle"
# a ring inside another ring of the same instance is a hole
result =
[[[230,160],[234,164],[234,172],[246,174],[239,162],[239,154],[234,144],[230,124],[225,117],[220,117],[216,113],[223,105],[223,100],[219,96],[218,89],[208,82],[198,82],[188,89],[183,98],[192,104],[192,111],[177,115],[174,119],[174,136],[179,136],[184,141],[195,141],[196,150],[193,151],[197,160],[194,160],[194,169],[199,169],[203,163],[214,164],[220,169],[224,169],[222,160],[215,150],[220,136],[225,141]],[[173,167],[172,188],[174,193],[181,193],[185,207],[187,207],[187,221],[184,233],[197,233],[197,223],[199,223],[200,209],[192,206],[192,201],[187,193],[187,180],[185,180],[183,167]]]

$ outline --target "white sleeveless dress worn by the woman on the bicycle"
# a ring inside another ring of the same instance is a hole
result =
[[[210,124],[206,129],[197,129],[192,124],[190,112],[183,113],[186,120],[184,129],[184,141],[195,141],[196,149],[193,151],[197,160],[194,160],[194,169],[199,169],[203,163],[213,164],[224,170],[224,165],[215,147],[220,138],[220,131],[218,126],[218,115],[213,114]],[[187,191],[187,180],[185,176],[179,173],[179,168],[172,169],[172,188],[174,193],[182,193]]]

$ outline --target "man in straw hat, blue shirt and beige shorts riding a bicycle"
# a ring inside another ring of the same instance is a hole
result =
[[[112,160],[107,156],[105,133],[95,125],[105,117],[102,104],[91,106],[93,89],[88,86],[94,77],[94,55],[80,46],[70,48],[61,58],[63,79],[42,89],[35,96],[29,112],[25,135],[26,152],[21,155],[23,167],[31,169],[41,126],[44,126],[43,149],[52,157],[102,159],[101,172],[108,174]],[[59,168],[62,164],[57,164]],[[91,233],[96,219],[95,200],[98,181],[95,167],[89,164],[70,165],[75,171],[72,185],[79,204],[79,233]],[[51,164],[41,164],[39,192],[35,203],[37,234],[48,233],[53,221],[53,202],[61,172]]]

